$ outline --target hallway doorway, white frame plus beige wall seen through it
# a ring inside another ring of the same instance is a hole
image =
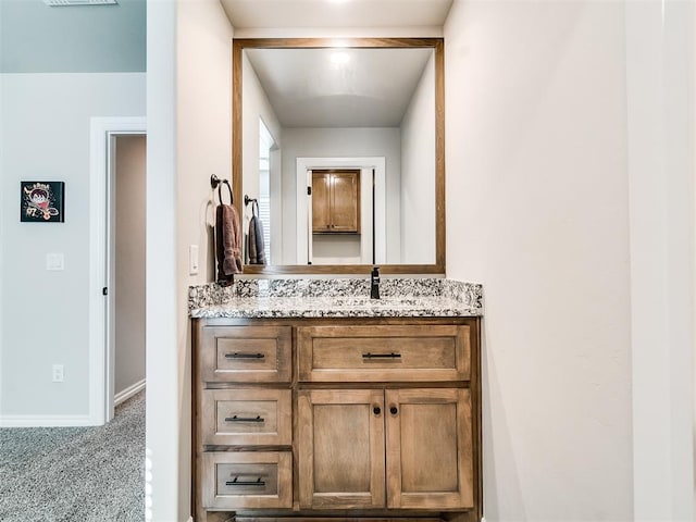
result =
[[[113,419],[116,401],[145,387],[146,134],[142,117],[90,122],[89,417],[95,425]],[[119,352],[119,344],[125,351]]]

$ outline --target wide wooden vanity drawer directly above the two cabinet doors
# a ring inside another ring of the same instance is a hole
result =
[[[465,325],[304,326],[297,330],[304,382],[467,381]]]

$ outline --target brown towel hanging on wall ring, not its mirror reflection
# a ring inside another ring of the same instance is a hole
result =
[[[217,283],[232,284],[234,274],[240,274],[244,270],[239,216],[232,204],[219,204],[215,209],[215,253]]]

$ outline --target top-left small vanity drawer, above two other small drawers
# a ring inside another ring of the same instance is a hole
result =
[[[288,383],[289,326],[206,326],[200,334],[204,382]]]

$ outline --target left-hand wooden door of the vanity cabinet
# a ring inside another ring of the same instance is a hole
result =
[[[301,508],[384,507],[384,414],[381,389],[299,391]]]

